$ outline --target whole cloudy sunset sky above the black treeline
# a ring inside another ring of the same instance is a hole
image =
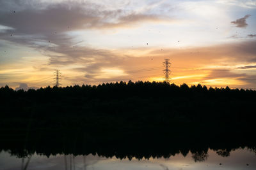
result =
[[[0,87],[115,82],[256,89],[256,1],[0,0]]]

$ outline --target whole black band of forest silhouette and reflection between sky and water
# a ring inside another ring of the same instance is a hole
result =
[[[255,148],[255,103],[256,91],[202,85],[121,81],[26,92],[6,86],[0,89],[0,144],[13,153],[19,146],[47,155],[47,148],[61,145],[65,153],[85,147],[121,158],[196,153],[200,146],[202,153],[226,145]]]

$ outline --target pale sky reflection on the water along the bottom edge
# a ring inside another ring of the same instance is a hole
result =
[[[216,152],[209,150],[209,157],[204,162],[195,162],[189,152],[186,157],[181,154],[170,157],[169,159],[149,159],[136,160],[116,159],[115,157],[106,159],[88,155],[86,157],[77,156],[73,159],[67,155],[67,169],[70,169],[70,159],[72,169],[256,169],[256,155],[246,149],[230,152],[230,157],[221,157]],[[26,164],[28,159],[24,160]],[[0,153],[0,169],[14,170],[21,169],[22,159],[10,156],[8,152]],[[73,163],[74,162],[74,163]],[[85,162],[85,164],[84,164]],[[221,164],[221,165],[220,165]],[[246,165],[248,164],[248,166]],[[33,155],[28,165],[28,169],[65,169],[65,158],[63,155],[51,156],[49,158],[40,155]]]

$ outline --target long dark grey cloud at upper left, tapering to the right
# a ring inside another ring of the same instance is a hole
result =
[[[5,5],[8,6],[8,3]],[[15,32],[22,34],[45,35],[79,29],[131,27],[139,22],[167,20],[167,18],[147,13],[134,13],[120,9],[104,10],[99,4],[86,1],[56,3],[45,8],[28,7],[15,14],[0,11],[0,24],[13,27]]]

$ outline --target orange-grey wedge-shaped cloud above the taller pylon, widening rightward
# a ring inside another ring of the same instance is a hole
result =
[[[146,55],[161,55],[170,56],[172,62],[182,61],[183,65],[189,64],[184,62],[186,60],[196,63],[198,66],[201,64],[218,63],[221,62],[256,62],[256,41],[243,41],[236,43],[226,43],[221,45],[212,45],[204,47],[191,47],[180,49],[165,48],[163,51],[157,49],[148,52]]]

